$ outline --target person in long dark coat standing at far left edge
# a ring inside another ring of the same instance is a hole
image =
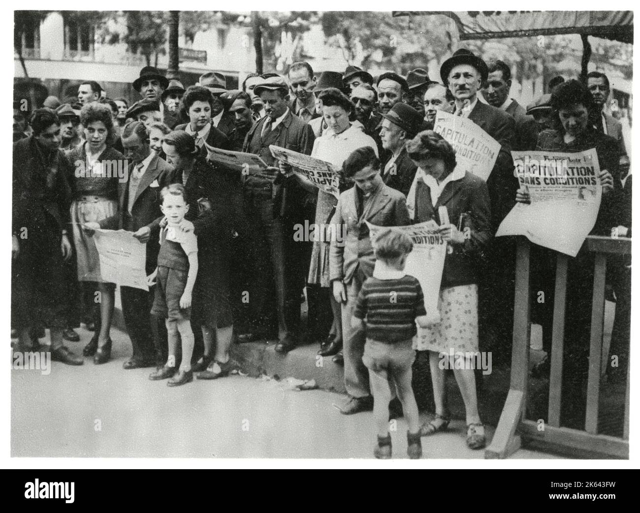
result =
[[[62,343],[65,328],[63,259],[71,258],[68,238],[70,164],[59,149],[60,120],[51,109],[31,118],[33,136],[13,145],[12,326],[19,351],[31,347],[29,329],[51,328],[51,359],[81,365]]]

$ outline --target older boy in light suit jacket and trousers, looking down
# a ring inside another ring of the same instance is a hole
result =
[[[329,272],[333,296],[342,304],[344,386],[349,402],[341,411],[351,414],[373,407],[369,372],[362,363],[365,336],[351,328],[358,292],[372,276],[376,262],[365,221],[377,226],[405,226],[410,221],[404,194],[383,183],[380,160],[373,148],[358,148],[342,168],[355,185],[340,194],[333,216],[335,237],[330,246]]]

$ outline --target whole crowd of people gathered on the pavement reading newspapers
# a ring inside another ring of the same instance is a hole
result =
[[[387,421],[397,395],[415,458],[420,437],[450,422],[442,354],[511,358],[515,242],[493,237],[516,202],[529,201],[511,150],[595,148],[603,192],[592,233],[630,237],[629,161],[620,122],[603,108],[611,91],[600,72],[554,79],[526,109],[509,97],[511,67],[466,49],[442,63],[437,81],[420,68],[374,78],[351,65],[316,75],[296,62],[285,76],[248,75],[241,90],[228,90],[217,72],[184,88],[154,67],[132,85],[141,99],[131,105],[109,99],[95,81],[80,84],[77,99],[47,98],[29,120],[14,105],[16,350],[34,351],[49,328],[54,361],[109,361],[116,286],[102,278],[94,237],[100,229],[127,230],[146,244],[149,290],[120,287],[132,347],[125,369],[156,367],[149,379],[178,386],[194,375],[228,375],[234,340],[275,340],[283,354],[318,343],[319,355],[344,365],[349,398],[341,412],[374,410],[376,457],[391,455]],[[454,149],[433,131],[438,111],[472,120],[499,143],[486,182],[456,167]],[[270,145],[341,170],[339,198],[276,160]],[[259,155],[268,167],[246,175],[227,169],[211,158],[214,148]],[[127,163],[124,179],[77,173],[77,162],[100,170],[116,161]],[[412,241],[399,230],[372,240],[367,225],[429,220],[449,245],[438,312],[425,311],[424,291],[404,272]],[[327,235],[296,240],[305,223]],[[342,237],[330,236],[331,227]],[[532,255],[532,290],[547,297],[533,303],[532,316],[550,354],[555,254],[533,246]],[[575,404],[586,388],[593,255],[583,249],[569,265],[564,375]],[[627,262],[609,265],[607,280],[618,302],[612,352],[626,375]],[[390,291],[397,292],[392,304],[381,300]],[[79,341],[80,322],[94,332],[83,355],[64,342]],[[415,338],[418,329],[427,336]],[[435,417],[423,425],[411,388],[415,351],[430,355]],[[476,373],[451,368],[467,445],[482,448]],[[548,374],[548,359],[534,372]]]

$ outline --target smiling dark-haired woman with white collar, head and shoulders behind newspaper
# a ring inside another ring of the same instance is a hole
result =
[[[182,97],[182,111],[189,123],[176,125],[174,130],[184,130],[195,140],[202,155],[206,155],[204,143],[214,148],[230,150],[229,139],[211,123],[213,97],[211,91],[201,86],[190,86]]]

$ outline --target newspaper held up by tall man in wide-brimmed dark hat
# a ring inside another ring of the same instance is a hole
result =
[[[456,168],[462,167],[485,182],[500,152],[500,143],[476,123],[448,112],[436,113],[433,131],[456,150]]]

